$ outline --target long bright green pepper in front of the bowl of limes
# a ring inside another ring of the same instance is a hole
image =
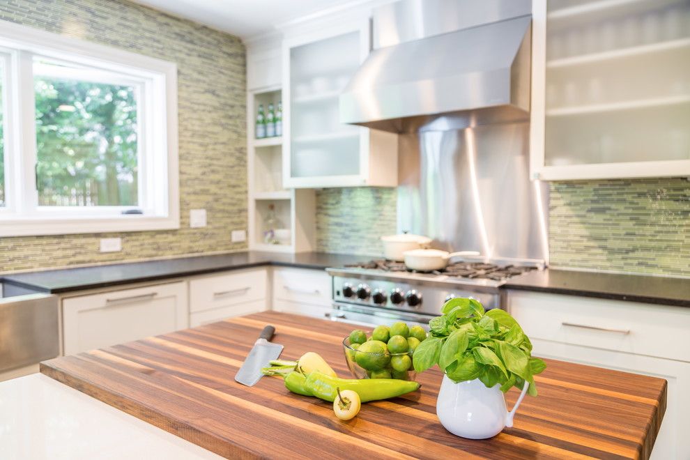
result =
[[[287,378],[285,380],[287,381]],[[397,378],[335,378],[320,372],[312,372],[307,376],[306,388],[314,396],[331,402],[335,401],[338,388],[341,391],[353,390],[360,395],[362,402],[367,402],[388,399],[418,390],[420,384]]]

